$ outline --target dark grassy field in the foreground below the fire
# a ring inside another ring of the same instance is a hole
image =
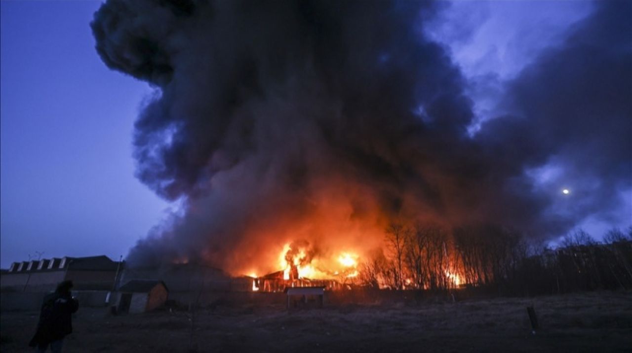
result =
[[[526,307],[537,312],[532,333]],[[2,352],[32,352],[37,313],[1,314]],[[64,352],[632,352],[632,292],[288,312],[283,303],[111,316],[83,308]],[[191,330],[193,327],[193,330]]]

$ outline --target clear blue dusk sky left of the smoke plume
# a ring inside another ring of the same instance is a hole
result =
[[[2,267],[37,252],[125,256],[167,206],[131,157],[151,89],[97,56],[99,1],[0,4]]]

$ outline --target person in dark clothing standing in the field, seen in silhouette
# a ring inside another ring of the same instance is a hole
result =
[[[71,280],[64,280],[55,292],[44,297],[37,331],[29,343],[37,352],[46,352],[49,346],[51,352],[61,352],[64,337],[73,332],[72,314],[79,308],[79,302],[71,296],[72,287]]]

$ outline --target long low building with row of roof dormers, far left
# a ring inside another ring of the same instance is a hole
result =
[[[105,255],[14,262],[0,274],[0,290],[50,292],[63,280],[72,280],[73,290],[112,290],[122,270],[123,263]]]

